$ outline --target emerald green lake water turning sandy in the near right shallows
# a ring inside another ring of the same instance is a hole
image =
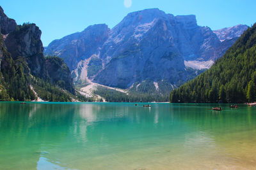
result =
[[[0,103],[0,169],[253,169],[256,108]]]

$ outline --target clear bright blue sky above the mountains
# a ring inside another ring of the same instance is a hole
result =
[[[159,8],[173,15],[196,15],[198,25],[209,26],[212,30],[237,24],[251,26],[256,22],[255,0],[125,1],[126,7],[124,0],[2,0],[0,5],[17,24],[38,25],[44,46],[54,39],[83,31],[89,25],[104,23],[112,28],[127,13],[147,8]]]

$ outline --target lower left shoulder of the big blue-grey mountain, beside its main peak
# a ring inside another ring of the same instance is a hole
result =
[[[106,24],[92,25],[82,32],[77,32],[51,42],[45,53],[63,58],[70,69],[76,69],[79,61],[98,55],[103,43],[108,39],[109,28]]]

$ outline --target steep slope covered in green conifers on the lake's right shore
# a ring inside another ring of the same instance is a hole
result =
[[[256,24],[221,59],[170,94],[171,103],[256,101]]]

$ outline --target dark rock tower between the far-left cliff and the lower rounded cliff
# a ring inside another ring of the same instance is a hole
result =
[[[46,78],[41,34],[42,32],[35,24],[18,25],[17,29],[7,36],[5,44],[13,59],[26,57],[31,73]]]

